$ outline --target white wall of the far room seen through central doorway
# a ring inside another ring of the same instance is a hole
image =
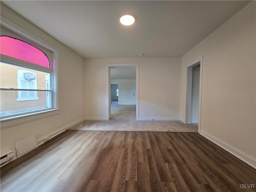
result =
[[[133,104],[133,83],[136,79],[112,79],[110,83],[119,84],[119,105]]]

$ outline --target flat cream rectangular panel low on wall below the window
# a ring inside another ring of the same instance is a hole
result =
[[[14,143],[18,157],[37,148],[36,135],[26,137]]]

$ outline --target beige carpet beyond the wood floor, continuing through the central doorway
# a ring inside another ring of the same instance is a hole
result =
[[[136,121],[135,105],[111,105],[108,121],[84,121],[69,130],[198,132],[198,126],[180,121]]]

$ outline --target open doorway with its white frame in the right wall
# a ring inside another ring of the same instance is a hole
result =
[[[202,58],[187,66],[186,124],[198,124],[200,132],[202,94]]]

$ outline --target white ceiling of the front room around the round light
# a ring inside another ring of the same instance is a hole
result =
[[[250,1],[2,2],[84,58],[111,58],[182,56]]]

